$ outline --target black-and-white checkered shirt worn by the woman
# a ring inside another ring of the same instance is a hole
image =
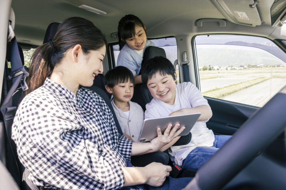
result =
[[[29,179],[40,187],[118,189],[132,142],[117,131],[113,115],[95,92],[77,96],[46,79],[17,110],[12,139]]]

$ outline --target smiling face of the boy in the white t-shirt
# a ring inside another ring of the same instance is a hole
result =
[[[174,73],[176,75],[176,72]],[[176,83],[173,75],[162,76],[157,72],[147,82],[151,95],[167,104],[174,105],[176,97]]]

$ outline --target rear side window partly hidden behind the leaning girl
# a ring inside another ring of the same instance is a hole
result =
[[[151,41],[155,44],[155,46],[163,48],[166,52],[167,59],[170,60],[172,64],[174,64],[175,60],[177,59],[177,43],[176,38],[159,38],[159,39],[151,39]],[[113,55],[115,66],[117,64],[117,58],[119,54],[119,45],[113,45]],[[176,65],[176,73],[177,73],[177,83],[180,83],[180,74],[179,74],[179,67]]]

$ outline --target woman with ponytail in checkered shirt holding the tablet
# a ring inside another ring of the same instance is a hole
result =
[[[132,143],[118,133],[103,99],[81,87],[91,86],[94,76],[102,73],[105,53],[102,32],[78,17],[63,21],[54,39],[35,50],[29,91],[12,126],[19,159],[35,185],[61,189],[160,186],[169,175],[170,166],[159,163],[126,166],[130,156],[157,151],[178,136],[182,132],[175,132],[178,125],[172,130],[168,126],[164,135],[158,130],[151,143]]]

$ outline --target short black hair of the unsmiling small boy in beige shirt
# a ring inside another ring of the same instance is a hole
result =
[[[104,78],[106,85],[108,85],[110,88],[113,88],[119,83],[128,82],[128,80],[134,84],[133,73],[128,68],[123,66],[117,66],[107,71]]]

